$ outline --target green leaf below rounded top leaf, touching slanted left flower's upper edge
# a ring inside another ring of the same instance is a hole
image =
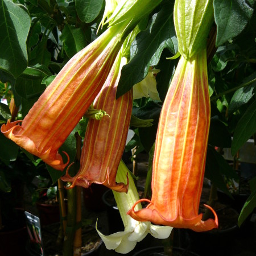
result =
[[[86,46],[82,29],[69,24],[65,24],[60,39],[64,42],[64,49],[69,58]]]

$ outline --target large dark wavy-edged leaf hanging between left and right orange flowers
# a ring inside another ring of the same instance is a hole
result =
[[[159,13],[150,19],[145,31],[140,32],[131,43],[130,61],[122,68],[117,88],[117,98],[142,81],[150,65],[157,65],[164,48],[174,55],[177,52],[173,4],[163,5]]]

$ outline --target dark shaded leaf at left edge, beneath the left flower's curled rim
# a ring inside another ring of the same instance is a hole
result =
[[[17,158],[19,147],[10,139],[7,139],[3,133],[0,133],[0,159],[9,164],[10,161],[14,161]]]

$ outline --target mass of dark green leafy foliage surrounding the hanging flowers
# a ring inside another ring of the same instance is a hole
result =
[[[23,119],[46,86],[67,61],[97,38],[104,13],[103,0],[0,0],[0,123],[11,117],[6,104],[12,97]],[[231,147],[232,155],[256,132],[256,14],[254,0],[214,0],[216,45],[208,65],[212,114],[205,173],[213,183],[225,190],[222,175],[232,176],[228,163],[214,147]],[[158,92],[164,100],[177,60],[167,60],[178,50],[173,23],[173,0],[164,0],[143,20],[141,32],[130,48],[130,62],[122,69],[117,97],[141,81],[154,65]],[[135,129],[127,148],[150,151],[154,144],[162,102],[142,98],[134,101],[133,114],[154,119],[151,127]],[[82,123],[76,127],[81,131]],[[75,131],[63,145],[75,158]],[[232,141],[233,137],[233,141]],[[0,188],[8,191],[4,174],[21,152],[18,146],[0,133]],[[25,152],[32,162],[34,156]],[[228,170],[228,171],[227,171]],[[63,173],[48,167],[55,182]],[[26,172],[25,169],[21,170]],[[38,175],[35,170],[35,175]],[[255,201],[255,185],[251,185],[249,203]],[[250,206],[250,205],[249,205]],[[245,214],[246,209],[243,209]]]

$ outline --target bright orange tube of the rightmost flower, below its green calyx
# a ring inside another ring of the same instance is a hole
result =
[[[218,219],[198,214],[203,187],[210,125],[207,59],[205,49],[179,60],[164,100],[156,135],[152,199],[139,200],[129,210],[138,221],[189,228],[197,232],[217,228]],[[135,205],[148,201],[147,208]]]

